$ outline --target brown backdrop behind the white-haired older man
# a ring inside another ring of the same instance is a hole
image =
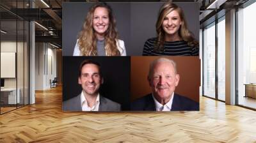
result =
[[[131,57],[131,101],[151,93],[147,81],[149,64],[158,56],[133,56]],[[180,75],[179,85],[175,93],[181,94],[199,102],[200,86],[200,59],[195,56],[168,56],[177,64]]]

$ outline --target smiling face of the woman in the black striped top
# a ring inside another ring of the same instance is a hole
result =
[[[179,29],[182,24],[177,10],[172,10],[164,17],[162,28],[167,36],[179,36]]]

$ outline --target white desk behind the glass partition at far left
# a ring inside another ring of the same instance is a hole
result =
[[[18,94],[17,94],[17,98],[16,98],[16,89],[15,88],[4,88],[1,89],[1,100],[2,97],[6,97],[8,98],[8,102],[6,101],[6,104],[16,104],[20,103],[20,89],[17,89]]]

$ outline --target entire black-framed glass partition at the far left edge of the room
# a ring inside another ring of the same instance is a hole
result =
[[[28,1],[1,1],[0,114],[29,103],[29,22],[13,13],[28,8]],[[4,13],[4,15],[2,15]]]

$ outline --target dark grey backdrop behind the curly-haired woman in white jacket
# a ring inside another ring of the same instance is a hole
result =
[[[76,45],[77,34],[81,31],[87,12],[94,3],[63,3],[62,8],[62,44],[63,56],[72,56]],[[108,3],[111,6],[118,30],[119,39],[125,41],[127,53],[130,46],[130,4]]]

